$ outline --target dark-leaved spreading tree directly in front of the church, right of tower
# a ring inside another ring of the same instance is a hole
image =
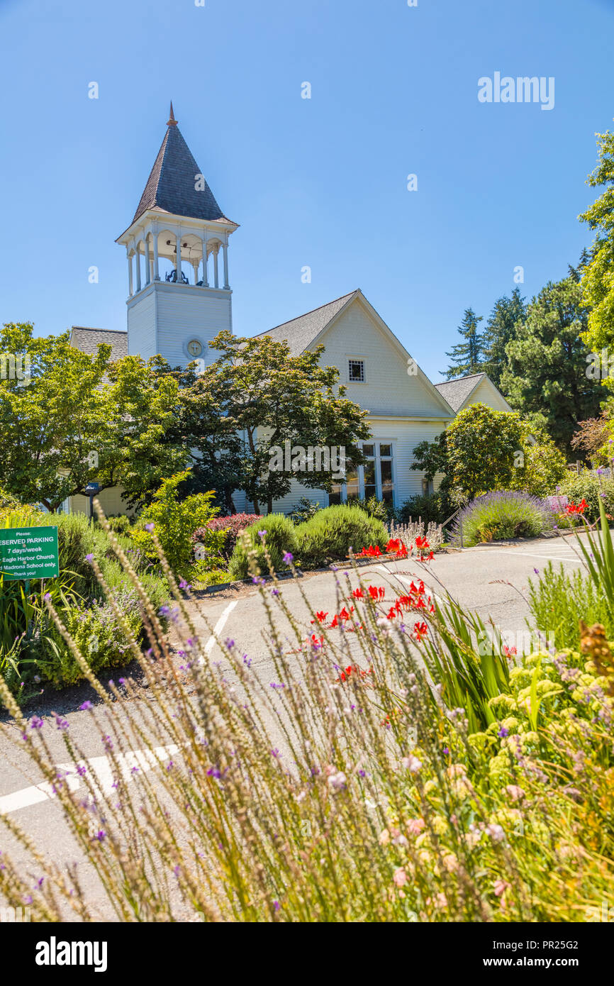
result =
[[[234,490],[245,490],[256,513],[285,496],[293,477],[330,490],[333,469],[271,468],[271,450],[345,449],[346,469],[364,461],[358,443],[369,438],[367,411],[345,397],[339,371],[321,367],[324,351],[291,356],[286,342],[270,336],[240,338],[220,332],[210,342],[219,355],[199,375],[184,378],[177,428],[191,449],[194,481],[209,484],[228,509]],[[284,457],[285,458],[285,457]],[[317,464],[317,462],[315,462]]]

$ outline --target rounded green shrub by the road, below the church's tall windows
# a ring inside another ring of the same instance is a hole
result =
[[[384,548],[388,532],[381,521],[369,517],[360,507],[326,507],[297,528],[299,557],[303,568],[322,568],[331,561],[344,560],[350,547],[354,551]]]

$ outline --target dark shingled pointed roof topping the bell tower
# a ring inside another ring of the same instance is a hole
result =
[[[172,113],[172,103],[167,127],[132,222],[136,222],[147,209],[162,209],[175,216],[232,223],[222,212],[206,181],[204,189],[197,191],[194,187],[196,176],[202,175],[202,172],[181,136]]]

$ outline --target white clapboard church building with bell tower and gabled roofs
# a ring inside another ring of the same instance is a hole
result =
[[[171,366],[194,359],[212,363],[208,342],[222,329],[233,331],[229,242],[238,229],[198,168],[171,104],[134,218],[116,241],[125,247],[128,266],[127,331],[73,326],[71,343],[95,353],[109,342],[112,359],[161,354]],[[372,433],[363,443],[367,464],[348,473],[333,493],[296,481],[288,496],[274,502],[276,512],[289,513],[304,496],[326,506],[375,494],[401,506],[427,490],[423,475],[411,468],[420,442],[432,442],[459,410],[477,401],[512,410],[485,374],[432,384],[360,289],[260,335],[287,340],[292,355],[323,344],[323,365],[336,367],[347,397],[368,410]],[[238,511],[251,509],[244,494],[233,499]],[[108,514],[124,512],[118,489],[102,491],[101,502]],[[86,509],[85,497],[72,498],[71,510]]]

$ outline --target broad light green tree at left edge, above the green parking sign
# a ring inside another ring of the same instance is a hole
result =
[[[0,352],[29,366],[23,379],[0,380],[0,485],[22,502],[55,511],[92,480],[139,498],[185,464],[181,449],[163,441],[176,384],[139,357],[113,365],[110,346],[91,356],[70,345],[68,332],[34,337],[30,323],[6,324]]]

